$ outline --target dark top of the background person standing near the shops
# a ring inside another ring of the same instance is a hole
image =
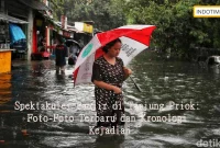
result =
[[[66,65],[66,58],[68,57],[67,47],[65,45],[56,45],[56,66],[63,67]]]

